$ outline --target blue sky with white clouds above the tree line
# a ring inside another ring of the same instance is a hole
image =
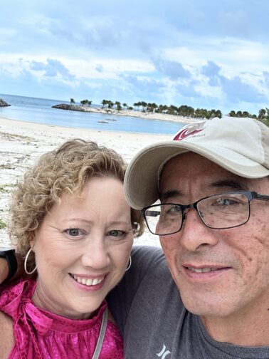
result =
[[[269,107],[268,0],[0,0],[0,93]]]

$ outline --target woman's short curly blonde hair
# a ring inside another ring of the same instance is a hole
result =
[[[79,196],[91,177],[115,177],[123,182],[125,170],[117,152],[92,141],[69,140],[42,155],[11,194],[9,234],[17,251],[26,256],[33,231],[63,193]],[[134,234],[141,235],[144,222],[139,211],[131,209],[131,221]]]

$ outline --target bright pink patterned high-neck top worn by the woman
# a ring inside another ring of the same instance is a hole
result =
[[[107,303],[91,319],[68,319],[37,308],[31,301],[35,287],[36,281],[28,279],[1,290],[0,311],[14,321],[15,344],[9,359],[92,358]],[[122,359],[122,347],[117,327],[107,321],[100,359]]]

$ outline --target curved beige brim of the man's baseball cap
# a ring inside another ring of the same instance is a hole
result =
[[[238,152],[216,146],[199,146],[194,143],[165,141],[149,145],[132,159],[125,175],[125,197],[131,207],[142,209],[159,197],[159,168],[170,158],[184,152],[196,152],[226,170],[246,178],[262,178],[269,175],[257,162]],[[228,160],[227,160],[228,159]]]

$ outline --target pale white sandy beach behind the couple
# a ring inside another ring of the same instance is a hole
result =
[[[0,221],[6,222],[8,219],[10,192],[26,167],[43,152],[53,150],[65,140],[77,137],[111,147],[129,162],[142,147],[152,142],[167,140],[171,136],[63,128],[0,118]],[[136,243],[159,245],[157,237],[148,233],[143,234]],[[5,229],[0,229],[0,244],[9,244]]]

